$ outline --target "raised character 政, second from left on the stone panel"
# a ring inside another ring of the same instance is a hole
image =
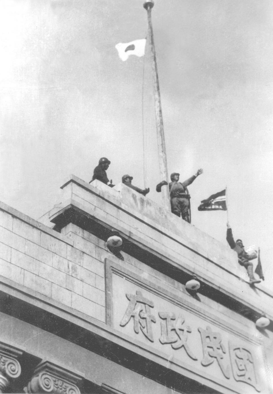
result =
[[[174,313],[159,312],[159,317],[163,320],[163,322],[161,322],[160,343],[172,344],[171,346],[173,349],[180,349],[184,347],[187,355],[193,360],[197,360],[197,357],[195,357],[186,343],[188,333],[191,333],[192,330],[188,325],[183,326],[185,321],[183,316],[179,315],[178,318],[175,319]]]

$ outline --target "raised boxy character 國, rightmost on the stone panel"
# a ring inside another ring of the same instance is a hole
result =
[[[255,387],[257,391],[260,391],[251,352],[245,348],[234,346],[229,343],[229,353],[231,356],[234,379],[236,381],[248,383]]]

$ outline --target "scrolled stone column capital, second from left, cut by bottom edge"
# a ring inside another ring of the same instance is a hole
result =
[[[82,378],[51,362],[42,361],[34,371],[25,393],[80,394],[76,384]]]

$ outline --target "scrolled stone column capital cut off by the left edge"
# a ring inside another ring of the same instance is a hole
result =
[[[21,366],[17,358],[22,351],[0,342],[0,393],[6,391],[12,379],[21,374]]]

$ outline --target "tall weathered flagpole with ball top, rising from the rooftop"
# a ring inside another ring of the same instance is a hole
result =
[[[168,182],[168,167],[167,167],[167,156],[166,156],[166,146],[163,128],[163,118],[162,118],[162,108],[160,100],[160,90],[159,90],[159,78],[157,72],[157,59],[155,56],[155,43],[153,40],[153,26],[151,20],[151,9],[154,6],[153,0],[145,1],[143,7],[147,10],[148,15],[148,38],[152,54],[152,70],[153,70],[153,93],[155,100],[155,119],[157,128],[157,145],[159,154],[159,171],[160,178]],[[170,193],[169,188],[162,188],[162,203],[163,206],[170,210]]]

